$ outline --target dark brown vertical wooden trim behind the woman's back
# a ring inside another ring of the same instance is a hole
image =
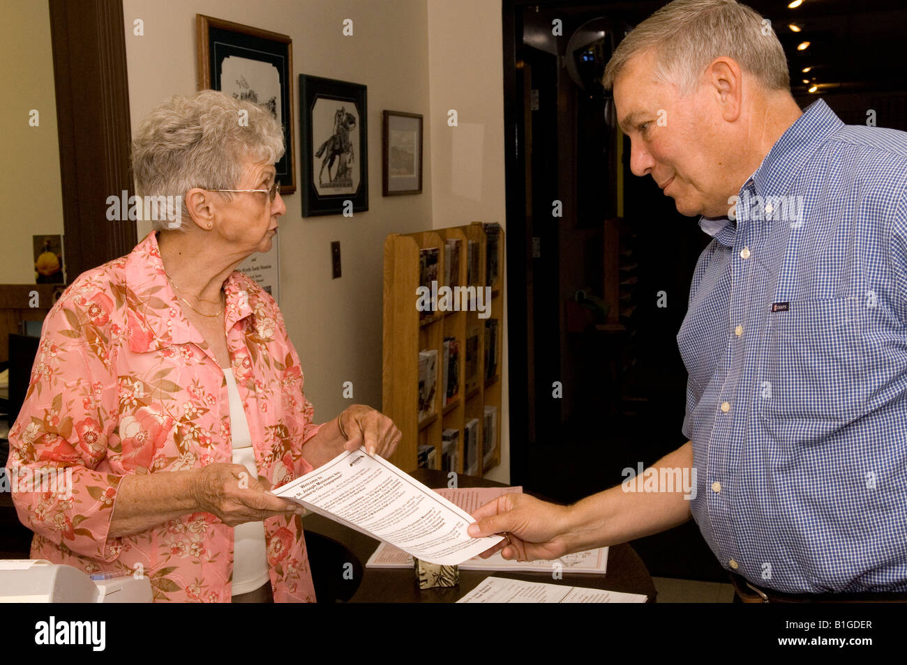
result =
[[[122,0],[49,0],[67,280],[128,254],[129,219],[107,198],[132,196],[129,82]]]

